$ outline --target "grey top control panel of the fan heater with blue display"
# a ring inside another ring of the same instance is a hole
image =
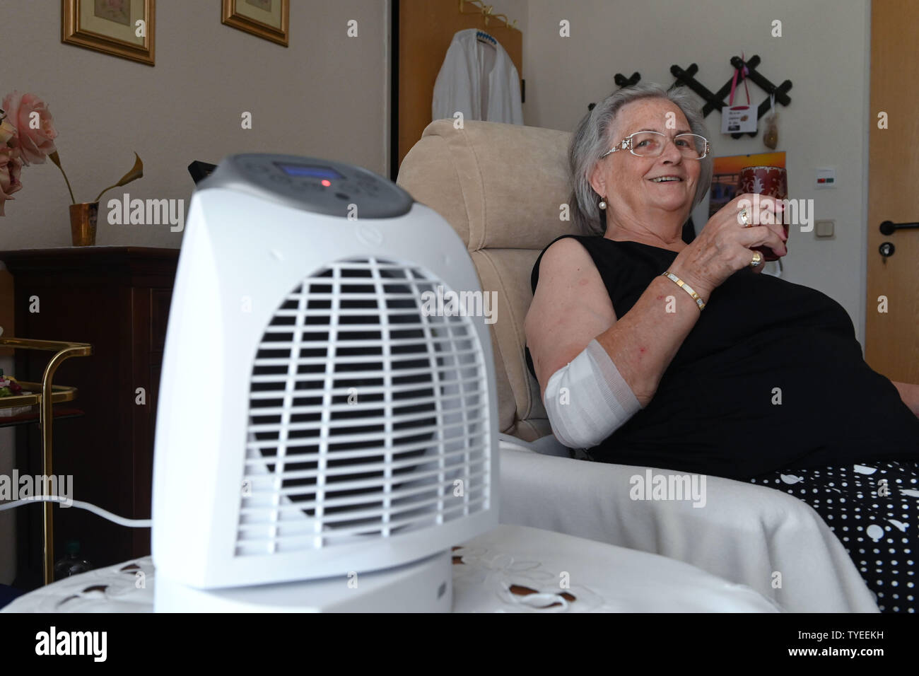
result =
[[[230,155],[198,189],[237,189],[307,212],[343,218],[395,218],[414,200],[361,166],[298,155]]]

